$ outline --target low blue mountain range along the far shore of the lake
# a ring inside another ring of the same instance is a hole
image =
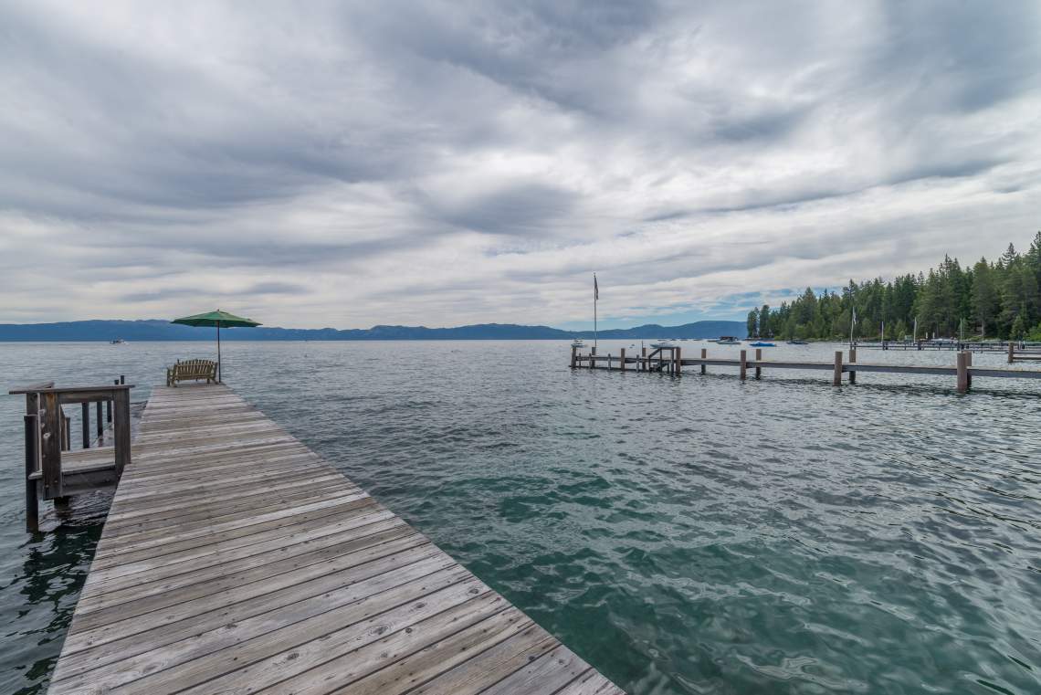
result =
[[[600,331],[601,338],[712,338],[743,336],[744,321],[701,320],[683,326],[648,324]],[[592,338],[592,331],[562,331],[549,326],[477,324],[456,328],[374,326],[371,329],[251,328],[225,329],[227,340],[566,340]],[[0,324],[0,341],[212,340],[213,329],[148,320],[78,320],[58,324]]]

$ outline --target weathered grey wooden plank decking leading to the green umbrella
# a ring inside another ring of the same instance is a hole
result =
[[[152,392],[49,692],[621,691],[212,385]]]

